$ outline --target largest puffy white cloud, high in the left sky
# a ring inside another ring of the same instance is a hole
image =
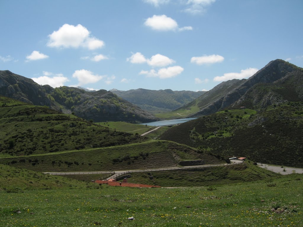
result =
[[[57,48],[78,48],[85,47],[89,50],[95,50],[104,46],[104,42],[93,37],[90,32],[82,25],[64,24],[58,29],[48,35],[49,47]]]

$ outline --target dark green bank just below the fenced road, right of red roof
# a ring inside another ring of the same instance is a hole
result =
[[[149,178],[150,175],[153,176],[153,179]],[[278,175],[247,162],[205,169],[131,173],[132,177],[128,179],[128,182],[163,187],[209,186],[250,182]]]

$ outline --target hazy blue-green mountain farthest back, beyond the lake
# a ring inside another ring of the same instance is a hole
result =
[[[112,89],[110,91],[144,110],[151,111],[171,111],[205,93],[205,91],[147,90],[142,88],[127,91]]]

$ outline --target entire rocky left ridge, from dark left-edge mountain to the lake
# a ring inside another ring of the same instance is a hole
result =
[[[48,106],[63,113],[96,121],[148,122],[157,120],[150,113],[118,97],[110,91],[95,92],[75,87],[53,88],[32,79],[0,71],[0,95],[29,104]]]

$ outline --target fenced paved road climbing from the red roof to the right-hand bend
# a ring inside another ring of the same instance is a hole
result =
[[[231,164],[240,164],[243,163],[242,160],[231,160]],[[115,174],[113,176],[110,176],[106,178],[106,180],[109,179],[115,179],[120,175],[128,174],[128,173],[134,173],[134,172],[153,172],[153,171],[166,171],[166,170],[180,170],[180,169],[201,169],[201,168],[208,168],[213,166],[227,166],[230,164],[214,164],[214,165],[201,165],[201,166],[184,166],[184,167],[171,167],[171,168],[162,168],[162,169],[132,169],[132,170],[118,170],[115,171]]]

